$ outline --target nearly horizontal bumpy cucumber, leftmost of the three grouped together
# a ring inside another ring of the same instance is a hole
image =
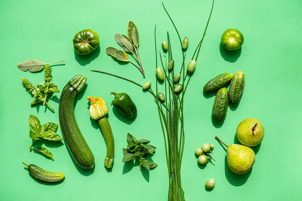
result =
[[[224,87],[225,85],[229,84],[232,80],[232,77],[233,74],[229,72],[217,75],[204,85],[203,90],[206,93],[218,90]]]

